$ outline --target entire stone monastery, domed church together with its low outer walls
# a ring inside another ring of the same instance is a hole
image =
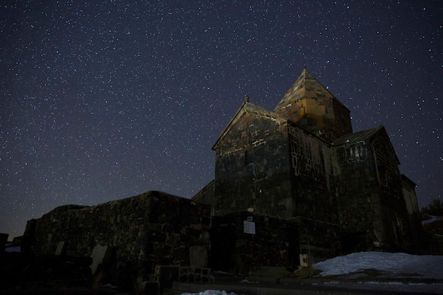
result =
[[[211,270],[248,277],[355,251],[420,251],[415,184],[386,129],[352,132],[350,110],[306,69],[272,111],[246,97],[212,149],[215,178],[192,199],[146,192],[57,207],[28,221],[22,252],[92,257],[92,275],[156,294]]]

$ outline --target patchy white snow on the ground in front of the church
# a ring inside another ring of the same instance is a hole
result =
[[[314,284],[318,286],[443,294],[443,256],[362,252],[318,262],[315,267],[323,277],[323,282]],[[364,270],[369,270],[372,277]],[[353,278],[352,282],[338,279],[344,275]],[[207,290],[182,295],[236,294]]]

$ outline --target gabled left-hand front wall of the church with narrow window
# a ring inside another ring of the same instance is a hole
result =
[[[286,120],[247,104],[214,146],[214,214],[253,209],[291,216]],[[283,203],[282,203],[283,202]]]

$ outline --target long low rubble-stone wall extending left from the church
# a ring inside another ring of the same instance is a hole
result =
[[[146,192],[92,207],[57,207],[28,221],[23,249],[37,256],[90,257],[102,245],[111,249],[115,270],[139,265],[137,279],[155,282],[160,265],[207,267],[210,226],[209,205]]]

